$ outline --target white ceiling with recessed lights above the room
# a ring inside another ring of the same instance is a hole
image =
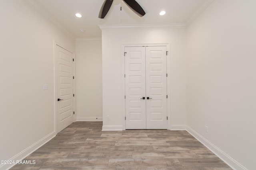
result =
[[[25,0],[75,38],[101,37],[98,25],[189,23],[212,0],[136,0],[146,12],[139,17],[122,0],[114,0],[104,19],[98,18],[104,0]],[[122,6],[122,11],[120,11]],[[160,11],[166,14],[160,16]],[[82,14],[77,18],[76,13]],[[84,29],[84,32],[80,32]]]

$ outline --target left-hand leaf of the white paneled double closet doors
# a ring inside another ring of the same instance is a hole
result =
[[[125,52],[126,129],[146,129],[145,47]]]

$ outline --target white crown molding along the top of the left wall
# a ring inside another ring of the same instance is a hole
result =
[[[52,24],[56,25],[59,29],[67,33],[67,35],[70,38],[75,39],[75,37],[69,31],[67,31],[58,21],[54,20],[54,18],[44,8],[42,8],[42,6],[40,6],[37,2],[35,2],[34,0],[23,0],[23,1],[26,2],[29,6],[31,6],[34,10],[36,10],[36,12],[41,14],[44,18],[46,18],[46,20],[50,21]]]

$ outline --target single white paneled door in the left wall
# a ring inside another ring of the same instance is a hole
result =
[[[73,54],[56,45],[57,133],[74,122]]]

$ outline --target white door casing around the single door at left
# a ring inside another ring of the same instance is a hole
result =
[[[59,46],[67,51],[69,51],[70,53],[72,53],[72,57],[74,59],[74,62],[73,62],[73,74],[74,74],[74,77],[76,77],[76,55],[74,52],[72,52],[71,50],[68,50],[68,48],[66,48],[64,45],[62,45],[61,43],[58,43],[54,40],[53,42],[53,61],[54,61],[54,131],[55,131],[55,135],[57,135],[57,67],[56,67],[56,52],[57,52],[57,49],[56,47]],[[73,88],[73,93],[75,94],[74,98],[73,98],[73,111],[75,112],[75,114],[73,115],[73,122],[76,122],[76,78],[73,79],[73,85],[72,85],[72,88]]]

